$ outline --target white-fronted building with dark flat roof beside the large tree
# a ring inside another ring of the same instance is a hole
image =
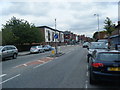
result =
[[[62,31],[59,31],[59,30],[55,30],[51,27],[48,27],[48,26],[39,26],[37,27],[39,28],[40,32],[42,33],[43,35],[43,42],[42,44],[49,44],[49,45],[52,45],[54,46],[56,43],[57,44],[64,44],[64,33]],[[58,38],[55,39],[55,34],[57,34]]]

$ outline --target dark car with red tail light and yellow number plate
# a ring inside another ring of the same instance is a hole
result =
[[[120,51],[97,52],[89,65],[90,84],[98,81],[120,83]]]

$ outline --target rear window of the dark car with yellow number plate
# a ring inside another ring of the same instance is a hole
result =
[[[99,53],[96,60],[100,61],[120,61],[120,53]]]

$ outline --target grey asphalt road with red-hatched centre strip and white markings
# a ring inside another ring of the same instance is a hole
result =
[[[119,85],[89,84],[87,49],[64,46],[60,57],[51,52],[19,56],[3,62],[2,88],[120,88]]]

